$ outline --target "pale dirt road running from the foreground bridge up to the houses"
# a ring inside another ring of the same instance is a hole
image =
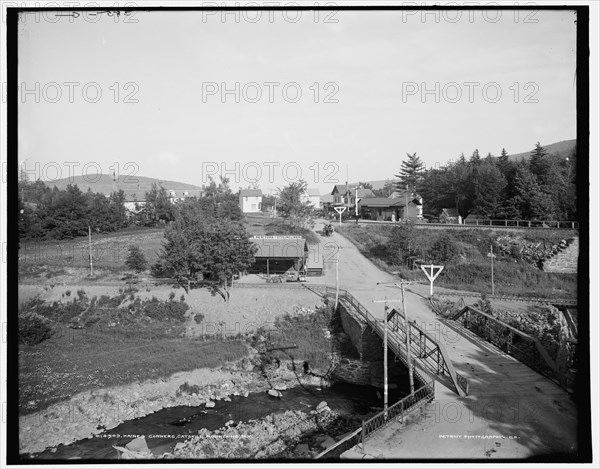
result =
[[[322,227],[322,222],[317,223],[315,231],[320,234]],[[339,258],[340,287],[375,317],[383,318],[383,305],[373,300],[398,300],[401,293],[394,285],[378,283],[399,278],[381,271],[340,234],[321,239],[314,247],[323,253],[325,264],[319,282],[335,285]],[[428,307],[428,296],[429,285],[407,287],[408,318],[446,347],[456,370],[469,381],[469,396],[460,398],[438,382],[435,401],[416,421],[392,423],[364,448],[356,447],[343,457],[486,459],[574,454],[577,407],[568,393],[495,346],[450,330]],[[390,306],[401,308],[401,303]]]

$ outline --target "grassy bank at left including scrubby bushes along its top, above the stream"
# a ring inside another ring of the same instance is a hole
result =
[[[183,336],[183,301],[133,293],[33,299],[19,311],[19,408],[35,412],[86,390],[213,368],[247,355],[241,341]]]

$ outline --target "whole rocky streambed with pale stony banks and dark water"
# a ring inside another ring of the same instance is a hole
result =
[[[311,457],[380,405],[371,386],[332,385],[293,362],[257,363],[254,353],[219,369],[80,393],[20,418],[21,453],[54,460]]]

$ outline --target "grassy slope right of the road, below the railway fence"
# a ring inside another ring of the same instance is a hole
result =
[[[539,256],[562,239],[572,237],[572,232],[536,231],[507,237],[505,232],[476,229],[445,232],[424,228],[394,231],[394,228],[392,225],[347,224],[337,229],[382,270],[405,279],[426,281],[420,269],[411,269],[407,262],[410,258],[419,258],[445,266],[436,279],[437,285],[489,293],[492,274],[487,253],[490,246],[494,246],[496,294],[542,298],[577,296],[577,275],[544,272],[535,265]],[[515,243],[521,247],[513,248]]]

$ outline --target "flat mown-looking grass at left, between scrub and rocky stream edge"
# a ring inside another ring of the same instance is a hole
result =
[[[44,409],[82,391],[212,368],[247,354],[242,342],[201,342],[156,332],[153,336],[148,331],[136,334],[61,327],[41,344],[21,344],[21,414]]]

